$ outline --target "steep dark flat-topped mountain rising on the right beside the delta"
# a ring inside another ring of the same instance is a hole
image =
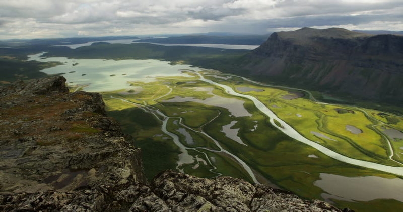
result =
[[[403,36],[302,28],[273,33],[245,61],[250,75],[274,82],[403,102]]]

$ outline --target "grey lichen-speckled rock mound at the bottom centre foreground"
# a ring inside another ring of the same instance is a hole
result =
[[[154,178],[152,187],[172,211],[341,211],[323,201],[303,200],[232,177],[203,179],[165,171]]]

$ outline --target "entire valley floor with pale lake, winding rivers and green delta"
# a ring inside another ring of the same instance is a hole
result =
[[[378,211],[403,205],[395,188],[403,181],[399,116],[321,103],[305,90],[190,65],[41,55],[30,58],[78,63],[63,75],[71,91],[102,93],[108,114],[142,148],[149,178],[170,168],[199,177],[239,177],[339,207],[354,209],[360,202],[366,211]],[[42,71],[56,74],[66,65]],[[348,189],[347,179],[388,192],[352,196],[329,186],[336,181]]]

